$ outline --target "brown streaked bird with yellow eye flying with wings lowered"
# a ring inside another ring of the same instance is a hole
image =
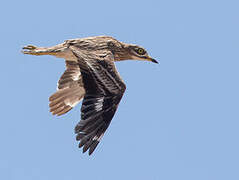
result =
[[[83,99],[75,133],[79,147],[83,153],[89,149],[89,155],[103,137],[126,89],[114,62],[131,59],[158,63],[144,48],[109,36],[71,39],[47,48],[28,45],[22,52],[65,59],[66,70],[49,98],[50,112],[60,116]]]

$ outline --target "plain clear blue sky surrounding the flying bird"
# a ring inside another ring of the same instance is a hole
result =
[[[238,180],[239,2],[2,1],[0,179]],[[64,60],[27,44],[110,35],[160,61],[118,62],[127,90],[92,156],[48,97]]]

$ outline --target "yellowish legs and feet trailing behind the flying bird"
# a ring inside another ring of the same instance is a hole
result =
[[[59,46],[53,46],[53,47],[45,48],[45,47],[36,47],[36,46],[33,46],[33,45],[25,46],[22,49],[23,49],[22,53],[36,55],[36,56],[57,55],[57,53],[59,53],[62,50],[62,48],[59,47]]]

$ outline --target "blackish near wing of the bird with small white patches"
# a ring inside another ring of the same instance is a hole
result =
[[[75,127],[76,139],[83,152],[93,153],[108,128],[125,91],[125,84],[116,71],[113,55],[104,60],[95,55],[84,56],[70,47],[78,58],[86,94],[81,107],[81,120]]]

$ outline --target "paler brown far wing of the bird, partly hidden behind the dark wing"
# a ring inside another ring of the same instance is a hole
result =
[[[58,81],[57,92],[49,98],[50,112],[58,116],[65,114],[76,106],[84,95],[79,64],[66,60],[66,70]]]

